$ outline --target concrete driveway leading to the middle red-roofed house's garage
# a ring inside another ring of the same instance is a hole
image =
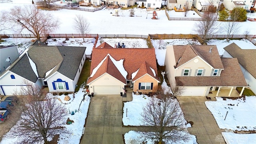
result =
[[[122,97],[92,97],[80,144],[123,144]]]

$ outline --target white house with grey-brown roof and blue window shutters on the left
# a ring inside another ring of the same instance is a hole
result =
[[[12,95],[27,83],[48,86],[50,92],[74,92],[86,48],[34,44],[0,75],[0,94]]]

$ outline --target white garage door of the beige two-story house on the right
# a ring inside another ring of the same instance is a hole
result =
[[[205,96],[207,87],[184,87],[182,96]]]

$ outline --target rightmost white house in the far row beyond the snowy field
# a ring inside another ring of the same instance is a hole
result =
[[[252,0],[223,0],[223,4],[228,10],[233,10],[234,7],[242,7],[246,10],[250,10],[252,6]]]

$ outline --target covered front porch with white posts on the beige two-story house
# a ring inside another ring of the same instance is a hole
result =
[[[234,86],[219,86],[219,87],[211,87],[208,97],[216,97],[216,96],[223,96],[223,97],[238,97],[242,96],[244,92],[245,86],[242,87],[240,93],[236,90]]]

